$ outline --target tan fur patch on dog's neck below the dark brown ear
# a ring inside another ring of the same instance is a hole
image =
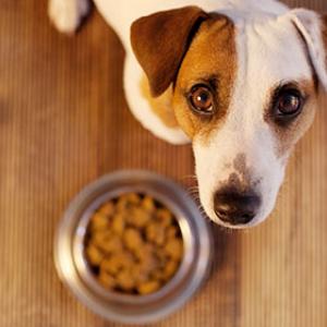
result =
[[[140,83],[142,95],[150,105],[150,109],[168,128],[177,128],[179,124],[172,110],[172,86],[165,90],[159,97],[154,98],[146,76]]]

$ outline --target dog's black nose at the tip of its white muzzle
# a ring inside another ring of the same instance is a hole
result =
[[[256,216],[261,198],[255,193],[226,189],[215,194],[214,205],[217,217],[223,222],[245,225]]]

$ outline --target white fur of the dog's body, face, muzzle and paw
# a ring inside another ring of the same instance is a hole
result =
[[[265,122],[263,110],[272,86],[281,81],[312,78],[312,68],[294,26],[303,34],[312,64],[320,83],[327,87],[326,53],[317,14],[308,10],[291,11],[274,0],[94,2],[125,47],[124,88],[133,114],[155,135],[173,144],[184,144],[190,140],[182,130],[166,126],[143,98],[140,90],[143,71],[131,48],[130,26],[143,15],[185,5],[217,11],[233,21],[237,28],[238,71],[232,100],[225,124],[213,134],[210,141],[205,144],[201,138],[193,140],[196,174],[201,202],[207,215],[228,226],[215,215],[213,194],[231,173],[239,173],[232,162],[238,154],[245,154],[251,179],[257,184],[256,192],[263,199],[259,213],[246,227],[263,221],[275,206],[290,154],[289,150],[282,156],[277,155],[276,136]],[[87,7],[86,0],[50,0],[50,16],[60,31],[71,33],[77,28]]]

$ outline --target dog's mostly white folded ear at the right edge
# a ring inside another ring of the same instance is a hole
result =
[[[290,14],[306,44],[315,73],[327,90],[327,15],[306,9],[294,9]]]

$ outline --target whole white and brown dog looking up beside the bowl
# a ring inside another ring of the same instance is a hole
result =
[[[95,0],[126,50],[135,118],[192,142],[201,204],[232,229],[272,211],[288,158],[327,88],[327,15],[275,0]],[[87,0],[50,0],[74,33]]]

